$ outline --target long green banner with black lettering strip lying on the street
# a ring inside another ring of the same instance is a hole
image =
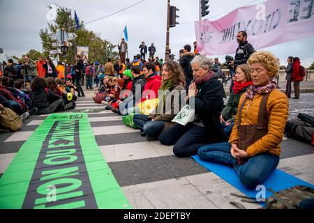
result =
[[[86,113],[52,114],[0,179],[0,208],[131,208]]]

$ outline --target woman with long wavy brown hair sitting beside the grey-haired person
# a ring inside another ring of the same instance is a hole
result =
[[[146,134],[147,140],[158,140],[161,132],[170,128],[172,119],[180,112],[181,93],[184,93],[184,73],[179,63],[169,61],[163,65],[163,85],[158,92],[158,106],[150,116],[135,114],[133,122]],[[181,92],[183,91],[183,92]]]

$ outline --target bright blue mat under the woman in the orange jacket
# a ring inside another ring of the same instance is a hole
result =
[[[200,159],[198,155],[194,155],[192,157],[196,162],[201,164],[206,169],[213,171],[214,174],[216,174],[220,178],[223,178],[223,180],[227,181],[227,183],[230,183],[232,186],[236,187],[239,191],[246,194],[246,196],[255,198],[256,194],[260,192],[248,189],[243,183],[241,183],[235,171],[230,167],[227,167],[222,164],[203,161]],[[287,174],[279,169],[276,169],[266,180],[264,180],[263,185],[266,187],[266,190],[268,188],[271,188],[276,192],[297,185],[304,185],[314,188],[314,185],[311,185],[311,183],[307,183],[304,180],[300,180],[299,178],[291,176],[290,174]],[[273,194],[269,192],[269,190],[267,190],[266,198],[271,197],[271,195]],[[261,205],[263,205],[263,203],[261,203]]]

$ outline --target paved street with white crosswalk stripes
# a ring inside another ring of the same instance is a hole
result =
[[[91,99],[80,99],[73,112],[102,108]],[[290,117],[298,112],[314,114],[314,93],[290,100]],[[0,176],[20,147],[46,116],[33,116],[19,132],[0,134]],[[147,141],[139,130],[124,126],[112,112],[89,112],[91,128],[103,157],[112,169],[133,208],[234,208],[230,196],[239,191],[191,158],[178,158],[172,146]],[[279,169],[314,184],[314,148],[293,139],[284,139]],[[246,208],[258,208],[242,203]]]

